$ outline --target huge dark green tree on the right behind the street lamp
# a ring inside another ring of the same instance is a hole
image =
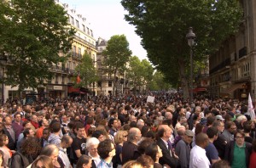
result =
[[[148,59],[166,79],[183,87],[189,97],[188,28],[196,33],[195,62],[216,52],[221,42],[233,35],[241,23],[238,0],[122,0],[125,20],[136,26]],[[196,64],[194,64],[196,66]]]

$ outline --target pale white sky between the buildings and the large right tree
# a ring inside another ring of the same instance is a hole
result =
[[[135,33],[135,26],[125,21],[127,11],[120,0],[60,0],[67,3],[68,8],[76,10],[76,14],[82,14],[86,18],[90,28],[94,31],[94,37],[101,36],[109,40],[113,35],[124,34],[130,44],[132,55],[139,59],[147,59],[147,52],[140,44],[141,38]]]

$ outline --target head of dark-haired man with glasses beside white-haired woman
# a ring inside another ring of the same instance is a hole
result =
[[[102,160],[105,160],[107,158],[113,158],[115,155],[115,148],[110,139],[105,139],[101,143],[99,143],[98,146],[98,154],[102,158]]]

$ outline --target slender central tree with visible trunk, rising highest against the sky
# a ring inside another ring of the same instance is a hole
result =
[[[126,36],[111,36],[108,46],[102,54],[105,56],[103,64],[107,68],[108,74],[113,74],[113,94],[116,94],[117,74],[125,72],[126,63],[131,57],[131,50]]]

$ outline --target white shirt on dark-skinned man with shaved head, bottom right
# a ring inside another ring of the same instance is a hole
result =
[[[195,145],[190,152],[189,168],[207,168],[210,166],[210,161],[207,158],[206,150]]]

